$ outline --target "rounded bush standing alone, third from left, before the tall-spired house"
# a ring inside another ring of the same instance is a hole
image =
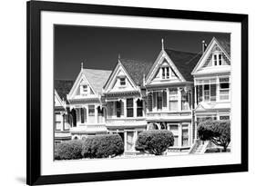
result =
[[[174,143],[172,132],[167,130],[144,131],[138,134],[136,150],[161,155]]]

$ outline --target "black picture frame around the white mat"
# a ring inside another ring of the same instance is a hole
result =
[[[248,15],[112,5],[85,5],[56,2],[29,1],[27,11],[27,129],[26,129],[26,183],[40,185],[83,181],[111,181],[248,171]],[[40,73],[40,18],[41,11],[91,13],[101,15],[137,15],[148,17],[181,18],[190,20],[226,21],[241,23],[241,163],[215,166],[168,168],[140,171],[111,171],[66,175],[41,175],[41,73]]]

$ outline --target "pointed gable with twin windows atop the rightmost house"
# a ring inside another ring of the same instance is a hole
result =
[[[213,37],[191,74],[225,72],[230,72],[230,43]]]

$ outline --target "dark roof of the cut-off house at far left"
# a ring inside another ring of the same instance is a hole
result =
[[[67,94],[73,86],[73,80],[55,80],[55,89],[61,99],[67,101]]]

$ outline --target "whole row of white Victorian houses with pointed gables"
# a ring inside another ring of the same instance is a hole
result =
[[[118,133],[136,152],[139,132],[165,129],[173,149],[189,149],[199,122],[230,119],[230,42],[202,52],[164,47],[154,63],[118,58],[112,71],[81,66],[75,82],[55,82],[55,142]]]

